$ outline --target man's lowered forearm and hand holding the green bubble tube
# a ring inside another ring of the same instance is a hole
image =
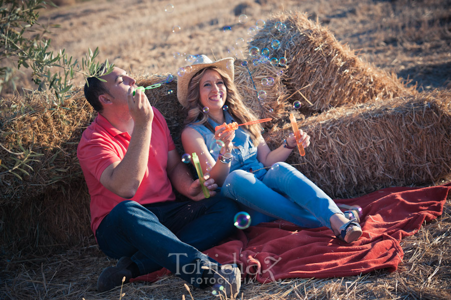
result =
[[[167,155],[167,176],[171,181],[172,186],[182,195],[198,201],[205,198],[202,193],[199,179],[193,180],[188,168],[180,159],[177,150],[171,150]],[[204,185],[208,188],[210,196],[214,196],[217,188],[217,184],[213,179],[208,179],[204,182]]]

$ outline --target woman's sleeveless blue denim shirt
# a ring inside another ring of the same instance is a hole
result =
[[[235,122],[227,111],[224,112],[224,117],[225,123],[227,124]],[[208,123],[213,128],[220,125],[211,119],[208,119]],[[217,160],[220,148],[214,147],[214,133],[202,124],[188,124],[187,126],[200,133],[211,156],[213,159]],[[263,164],[257,160],[257,147],[254,146],[249,133],[246,130],[241,129],[241,127],[238,127],[238,129],[235,130],[235,138],[232,143],[234,147],[232,149],[233,157],[230,171],[242,169],[254,173],[257,178],[261,179],[265,175],[266,169],[263,169]]]

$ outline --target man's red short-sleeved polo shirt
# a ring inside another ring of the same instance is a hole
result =
[[[147,170],[136,194],[128,199],[140,204],[175,199],[166,173],[168,152],[174,150],[175,145],[163,115],[154,107],[153,113]],[[128,132],[120,132],[100,114],[83,132],[77,157],[91,195],[91,229],[94,234],[114,206],[126,200],[105,188],[100,183],[100,176],[106,167],[124,158],[129,144]]]

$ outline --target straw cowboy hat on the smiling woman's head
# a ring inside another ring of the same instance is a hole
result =
[[[206,55],[199,55],[191,66],[185,67],[185,73],[182,76],[177,77],[177,99],[183,107],[188,106],[186,97],[188,96],[188,85],[194,75],[208,67],[215,67],[221,71],[227,73],[229,77],[234,80],[234,58],[224,58],[215,62],[211,61]]]

